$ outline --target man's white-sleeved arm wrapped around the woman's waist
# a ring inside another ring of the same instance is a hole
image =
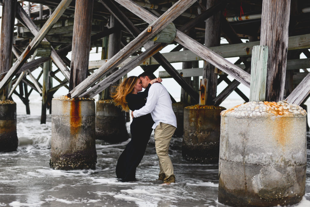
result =
[[[155,108],[156,102],[158,100],[158,97],[159,97],[158,89],[159,88],[154,84],[152,87],[150,87],[148,91],[148,99],[145,103],[145,106],[140,108],[139,110],[133,111],[132,114],[134,117],[141,117],[153,111],[153,109]]]

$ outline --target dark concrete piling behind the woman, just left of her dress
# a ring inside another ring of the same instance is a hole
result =
[[[128,139],[125,112],[112,99],[96,102],[96,139],[110,143]]]

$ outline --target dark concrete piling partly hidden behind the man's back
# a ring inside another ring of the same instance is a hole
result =
[[[184,108],[186,106],[183,102],[172,103],[172,110],[175,113],[176,125],[178,126],[173,134],[176,137],[181,137],[184,134]]]

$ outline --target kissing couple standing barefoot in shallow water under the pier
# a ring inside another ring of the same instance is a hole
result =
[[[112,98],[123,111],[132,111],[131,140],[117,160],[116,176],[122,182],[136,181],[136,168],[141,162],[154,129],[156,153],[159,159],[158,179],[164,184],[175,183],[173,166],[168,155],[171,137],[176,129],[176,117],[167,89],[161,78],[144,72],[126,78],[117,86]],[[142,87],[145,88],[143,92]]]

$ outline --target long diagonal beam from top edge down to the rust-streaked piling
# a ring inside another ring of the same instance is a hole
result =
[[[82,81],[78,86],[69,92],[69,96],[72,98],[77,98],[82,94],[88,87],[90,87],[95,82],[99,81],[100,78],[108,72],[110,68],[116,66],[127,57],[129,57],[134,51],[144,45],[151,37],[158,34],[162,29],[164,29],[168,24],[170,24],[175,18],[177,18],[182,12],[184,12],[188,7],[190,7],[195,0],[179,0],[176,2],[169,10],[167,10],[158,19],[156,18],[150,25],[151,32],[145,29],[139,34],[134,40],[128,43],[124,48],[122,48],[116,55],[108,60],[106,64],[96,70],[93,74]]]

